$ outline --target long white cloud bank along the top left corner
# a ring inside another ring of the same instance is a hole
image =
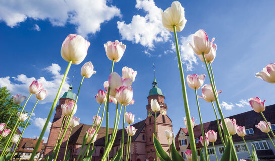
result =
[[[53,26],[67,23],[76,26],[82,36],[100,31],[100,24],[121,16],[120,9],[107,5],[106,0],[0,1],[0,20],[14,27],[27,18],[49,20]]]

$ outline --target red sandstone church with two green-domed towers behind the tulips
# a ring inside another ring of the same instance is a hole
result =
[[[62,121],[64,118],[64,115],[62,114],[61,105],[68,104],[70,102],[75,101],[75,94],[73,93],[72,89],[73,87],[70,86],[69,90],[65,92],[63,96],[59,99],[59,105],[57,105],[56,107],[56,114],[54,115],[54,119],[50,128],[50,133],[49,133],[48,141],[45,147],[44,156],[47,154],[51,155],[54,145],[58,139],[59,130],[61,128]],[[155,133],[155,113],[151,110],[151,105],[150,105],[151,99],[156,99],[159,105],[162,105],[160,111],[158,111],[156,114],[157,138],[162,144],[162,147],[164,150],[168,151],[169,149],[168,140],[165,136],[164,131],[166,129],[172,130],[172,121],[167,115],[167,104],[164,102],[165,96],[163,95],[161,89],[158,87],[158,83],[155,77],[152,83],[152,89],[150,89],[147,99],[148,99],[148,105],[146,105],[146,110],[147,110],[146,119],[132,125],[136,129],[138,129],[136,134],[132,136],[132,142],[131,142],[130,160],[133,160],[133,161],[153,161],[156,156],[154,143],[153,143],[153,133]],[[76,159],[77,156],[79,155],[83,137],[86,131],[88,131],[88,129],[91,126],[92,125],[86,125],[86,124],[80,123],[78,126],[72,129],[72,133],[69,139],[68,149],[67,149],[67,152],[69,150],[71,151],[70,160],[73,160],[74,158]],[[63,130],[64,130],[64,127],[65,126],[62,127]],[[113,148],[109,153],[109,160],[111,160],[111,158],[114,157],[118,149],[121,148],[122,130],[123,129],[119,129],[117,132],[117,136],[113,144]],[[113,128],[109,128],[109,135],[111,135],[112,131],[113,131]],[[66,142],[69,138],[69,132],[70,132],[70,126],[66,131],[57,160],[63,159]],[[94,144],[95,151],[92,156],[92,160],[94,161],[101,160],[101,157],[104,153],[105,134],[106,134],[106,128],[101,126],[100,130],[98,131],[97,140],[95,141],[95,144]],[[170,142],[172,142],[172,138]],[[127,132],[124,133],[123,160],[125,160],[126,144],[127,144]]]

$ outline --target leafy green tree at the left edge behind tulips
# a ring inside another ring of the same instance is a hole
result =
[[[17,113],[21,112],[22,107],[23,106],[21,105],[17,105],[13,103],[11,93],[9,93],[9,90],[7,90],[7,87],[2,87],[2,88],[0,87],[0,123],[7,123],[13,110],[15,109],[9,123],[6,126],[6,129],[11,129],[11,130],[13,129],[17,121]],[[25,112],[26,111],[24,111],[24,113]],[[19,127],[23,128],[25,125],[26,125],[26,122],[21,122]],[[4,148],[9,138],[9,135],[7,137],[2,138],[0,142],[0,149]]]

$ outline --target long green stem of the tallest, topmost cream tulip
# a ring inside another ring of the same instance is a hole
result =
[[[194,132],[193,132],[193,128],[192,128],[192,125],[191,125],[191,116],[190,116],[190,111],[189,111],[187,92],[186,92],[186,86],[185,86],[185,80],[184,80],[184,73],[183,73],[183,69],[182,69],[181,55],[180,55],[180,50],[179,50],[179,44],[178,44],[178,38],[177,38],[177,32],[176,32],[176,26],[175,25],[173,26],[173,29],[174,29],[174,37],[175,37],[178,65],[179,65],[180,76],[181,76],[184,109],[185,109],[185,114],[186,114],[188,134],[189,134],[189,138],[190,138],[190,147],[191,147],[191,151],[192,151],[192,160],[198,160],[198,158],[197,158],[197,149],[196,149],[195,138],[194,138]]]

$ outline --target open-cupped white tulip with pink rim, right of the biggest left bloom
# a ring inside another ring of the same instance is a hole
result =
[[[111,61],[119,62],[124,54],[126,45],[116,40],[115,42],[108,41],[104,44],[106,55]]]

